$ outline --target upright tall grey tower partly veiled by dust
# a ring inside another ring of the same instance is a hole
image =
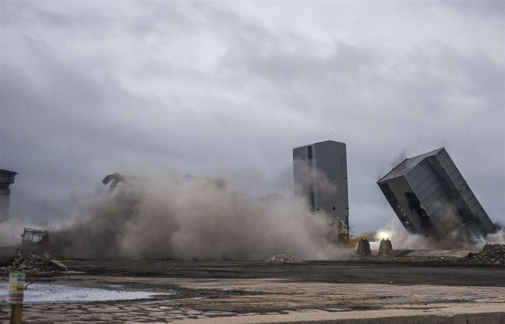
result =
[[[325,141],[293,149],[295,193],[306,197],[311,211],[342,228],[348,239],[347,156],[345,143]]]

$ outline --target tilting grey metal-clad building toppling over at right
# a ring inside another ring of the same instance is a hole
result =
[[[495,228],[444,148],[405,159],[377,184],[410,233],[485,235]]]

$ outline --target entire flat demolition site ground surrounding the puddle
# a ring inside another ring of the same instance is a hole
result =
[[[153,295],[25,305],[24,322],[354,323],[360,321],[352,318],[359,318],[372,323],[374,318],[393,322],[388,316],[403,318],[395,322],[429,322],[427,318],[435,316],[459,323],[458,316],[464,314],[465,323],[483,318],[505,323],[505,266],[455,260],[377,256],[300,264],[67,260],[63,263],[71,271],[27,273],[27,282],[93,281]],[[25,296],[29,293],[28,287]],[[0,321],[8,314],[8,306],[0,305]]]

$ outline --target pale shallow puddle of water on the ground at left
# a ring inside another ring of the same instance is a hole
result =
[[[8,282],[0,282],[0,303],[2,304],[7,302],[8,285]],[[30,284],[25,290],[24,302],[27,304],[46,304],[135,300],[154,297],[163,298],[160,295],[170,295],[172,293],[172,291],[168,290],[148,291],[126,288],[122,285],[97,284],[94,281],[53,281]]]

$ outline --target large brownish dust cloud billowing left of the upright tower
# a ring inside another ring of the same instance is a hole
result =
[[[305,199],[280,194],[243,200],[208,178],[151,179],[97,197],[49,242],[67,258],[324,259],[334,229]]]

